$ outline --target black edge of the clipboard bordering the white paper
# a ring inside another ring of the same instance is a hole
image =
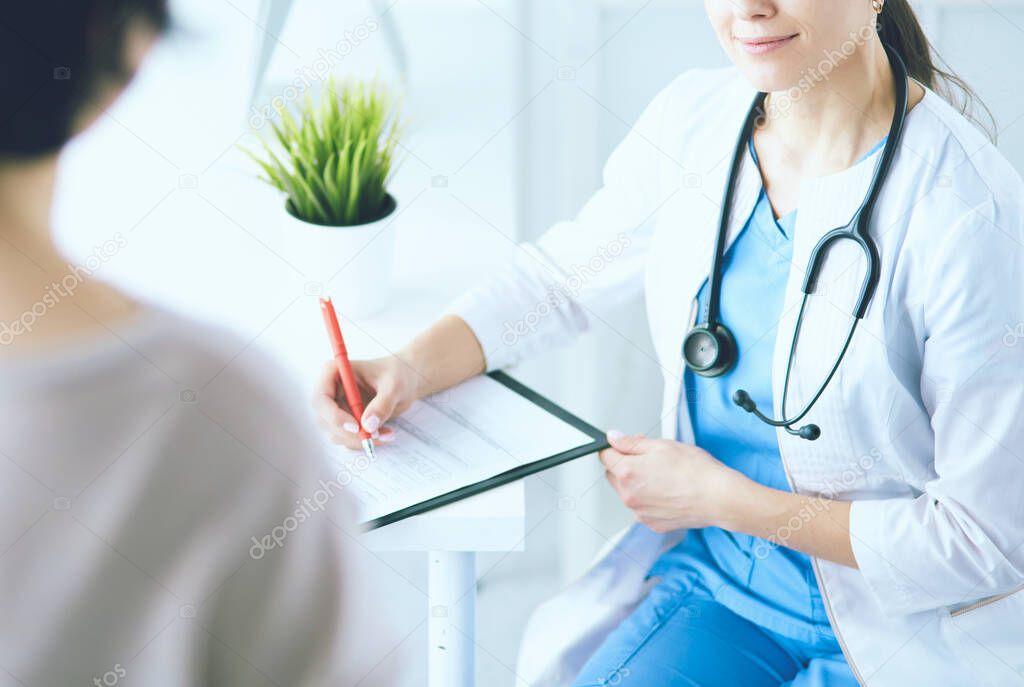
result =
[[[605,438],[604,432],[597,429],[593,425],[585,422],[584,420],[572,415],[562,406],[558,405],[554,401],[546,398],[537,391],[534,391],[525,384],[517,381],[508,374],[496,371],[487,373],[487,377],[504,385],[511,391],[519,394],[526,400],[530,401],[535,405],[543,409],[552,416],[558,418],[565,424],[573,427],[583,434],[590,437],[591,441],[573,446],[567,450],[555,454],[554,456],[548,456],[546,458],[541,458],[529,463],[524,463],[510,470],[498,473],[486,479],[475,481],[464,486],[445,491],[444,493],[431,497],[419,503],[413,504],[412,506],[407,506],[400,508],[386,515],[379,516],[372,520],[368,520],[362,523],[362,527],[366,530],[377,529],[385,525],[389,525],[393,522],[398,522],[399,520],[404,520],[406,518],[411,518],[414,515],[420,515],[428,511],[440,508],[442,506],[447,506],[449,504],[454,504],[457,501],[462,501],[463,499],[468,499],[474,497],[478,493],[483,493],[489,489],[497,488],[499,486],[504,486],[510,482],[514,482],[523,477],[536,474],[538,472],[543,472],[550,468],[556,467],[563,463],[567,463],[577,458],[583,456],[589,456],[590,454],[595,454],[599,450],[603,450],[609,446],[607,439]]]

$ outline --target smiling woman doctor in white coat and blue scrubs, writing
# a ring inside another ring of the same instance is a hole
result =
[[[706,4],[734,68],[673,81],[573,220],[357,362],[364,423],[400,440],[414,399],[643,288],[665,438],[600,457],[638,523],[535,613],[520,677],[1022,684],[1024,184],[906,0]],[[318,415],[357,446],[339,397],[332,364]]]

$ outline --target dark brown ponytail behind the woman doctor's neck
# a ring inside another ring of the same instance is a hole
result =
[[[900,54],[912,78],[948,100],[994,142],[995,118],[991,111],[967,82],[943,69],[944,65],[936,63],[942,60],[921,28],[909,0],[885,0],[879,15],[879,35]],[[984,121],[977,116],[976,109],[984,112]]]

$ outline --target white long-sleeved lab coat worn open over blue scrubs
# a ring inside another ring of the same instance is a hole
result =
[[[488,368],[570,339],[587,329],[589,304],[643,288],[665,372],[663,435],[675,437],[679,419],[683,440],[692,440],[686,404],[678,402],[680,346],[709,272],[731,153],[753,96],[728,69],[687,72],[655,97],[579,215],[524,245],[505,273],[453,306],[479,337]],[[776,414],[807,256],[854,215],[879,155],[801,187],[771,371]],[[730,242],[760,184],[748,155]],[[1024,585],[1022,199],[1020,176],[994,146],[928,91],[908,115],[871,223],[879,289],[806,419],[821,437],[778,431],[796,491],[853,502],[859,569],[818,559],[814,569],[862,684],[1024,683],[1024,591],[1015,593]],[[846,304],[863,273],[849,243],[829,254],[808,306],[791,414],[846,336]],[[680,535],[632,527],[542,605],[520,652],[523,681],[570,682],[642,598],[647,566]]]

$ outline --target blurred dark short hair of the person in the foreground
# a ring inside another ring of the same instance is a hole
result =
[[[128,32],[157,32],[167,0],[10,0],[0,9],[0,158],[54,153],[111,79],[127,82]]]

